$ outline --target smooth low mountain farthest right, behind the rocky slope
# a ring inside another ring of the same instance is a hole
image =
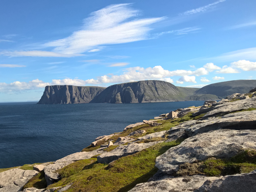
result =
[[[213,83],[197,90],[195,94],[212,94],[225,98],[233,93],[248,93],[256,87],[256,80],[234,80],[220,83]]]

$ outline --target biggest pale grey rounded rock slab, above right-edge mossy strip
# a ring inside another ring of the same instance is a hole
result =
[[[240,149],[256,149],[256,130],[215,130],[187,138],[156,158],[156,167],[164,173],[178,171],[183,163],[209,157],[230,158]]]

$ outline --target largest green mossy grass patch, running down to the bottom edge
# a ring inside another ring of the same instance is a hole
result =
[[[180,141],[159,143],[136,154],[121,157],[109,165],[94,162],[88,165],[90,168],[84,169],[83,164],[79,166],[80,170],[82,168],[80,172],[62,178],[59,182],[49,185],[47,189],[73,183],[67,192],[128,191],[138,183],[147,182],[157,172],[156,157],[178,144]],[[75,163],[80,164],[79,161]],[[67,168],[62,169],[67,171]]]

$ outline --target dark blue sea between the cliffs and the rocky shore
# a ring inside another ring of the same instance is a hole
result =
[[[37,105],[0,103],[0,168],[56,161],[101,135],[204,101]]]

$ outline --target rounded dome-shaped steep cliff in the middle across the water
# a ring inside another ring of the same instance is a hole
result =
[[[111,85],[95,96],[90,103],[145,103],[178,100],[189,100],[189,97],[171,83],[149,80]]]

